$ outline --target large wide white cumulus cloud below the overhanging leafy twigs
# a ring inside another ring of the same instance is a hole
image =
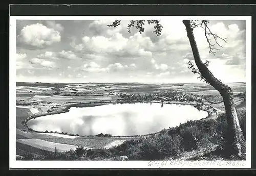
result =
[[[71,46],[76,51],[92,53],[108,53],[121,57],[152,57],[149,49],[153,48],[153,43],[149,37],[142,37],[139,33],[129,38],[123,37],[120,33],[112,36],[82,37],[82,43],[71,42]]]

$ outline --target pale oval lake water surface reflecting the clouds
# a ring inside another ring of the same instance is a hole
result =
[[[144,135],[176,127],[187,120],[207,117],[190,105],[160,103],[123,103],[86,108],[70,108],[67,113],[31,119],[28,127],[36,131],[113,136]]]

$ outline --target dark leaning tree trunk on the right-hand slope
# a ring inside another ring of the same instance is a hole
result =
[[[210,70],[204,65],[199,55],[197,43],[193,34],[193,29],[190,26],[190,20],[183,20],[183,23],[185,24],[187,37],[190,42],[196,65],[201,75],[212,87],[217,89],[223,97],[229,131],[229,137],[227,139],[227,142],[230,147],[226,149],[229,150],[231,155],[241,156],[242,146],[245,146],[245,140],[239,125],[236,106],[234,104],[233,92],[229,86],[223,84],[221,81],[215,78]]]

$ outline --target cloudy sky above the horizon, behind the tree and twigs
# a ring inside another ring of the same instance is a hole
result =
[[[17,82],[200,82],[187,67],[194,62],[182,20],[160,19],[161,35],[154,25],[144,33],[127,31],[129,20],[108,27],[111,20],[17,20]],[[209,54],[204,31],[194,29],[201,59],[223,82],[245,81],[245,20],[210,20],[212,33],[223,47]],[[212,39],[211,39],[212,40]],[[214,40],[212,40],[214,41]]]

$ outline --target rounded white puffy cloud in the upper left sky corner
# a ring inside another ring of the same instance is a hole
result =
[[[58,31],[47,28],[41,23],[27,25],[20,31],[18,38],[25,44],[37,47],[51,45],[61,39]]]

